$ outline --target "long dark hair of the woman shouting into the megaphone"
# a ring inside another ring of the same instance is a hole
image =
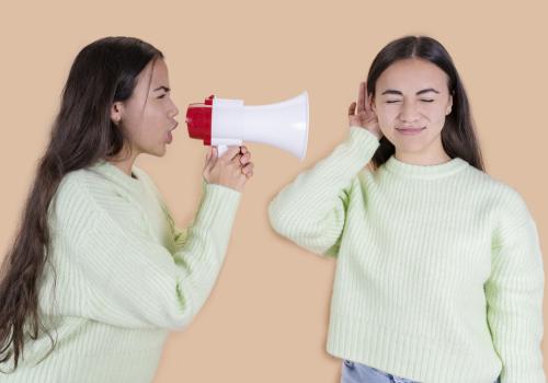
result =
[[[48,334],[38,312],[38,290],[50,253],[48,206],[61,178],[100,159],[116,156],[126,148],[123,129],[111,120],[112,104],[128,100],[138,74],[159,58],[163,58],[160,50],[134,37],[101,38],[76,57],[49,143],[38,162],[15,240],[0,274],[0,363],[13,356],[16,369],[26,326],[32,339],[37,338],[38,328]]]

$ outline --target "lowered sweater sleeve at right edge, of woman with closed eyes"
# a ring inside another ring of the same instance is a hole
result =
[[[488,322],[502,361],[501,383],[545,383],[543,255],[535,221],[505,231],[492,248],[486,283]]]

